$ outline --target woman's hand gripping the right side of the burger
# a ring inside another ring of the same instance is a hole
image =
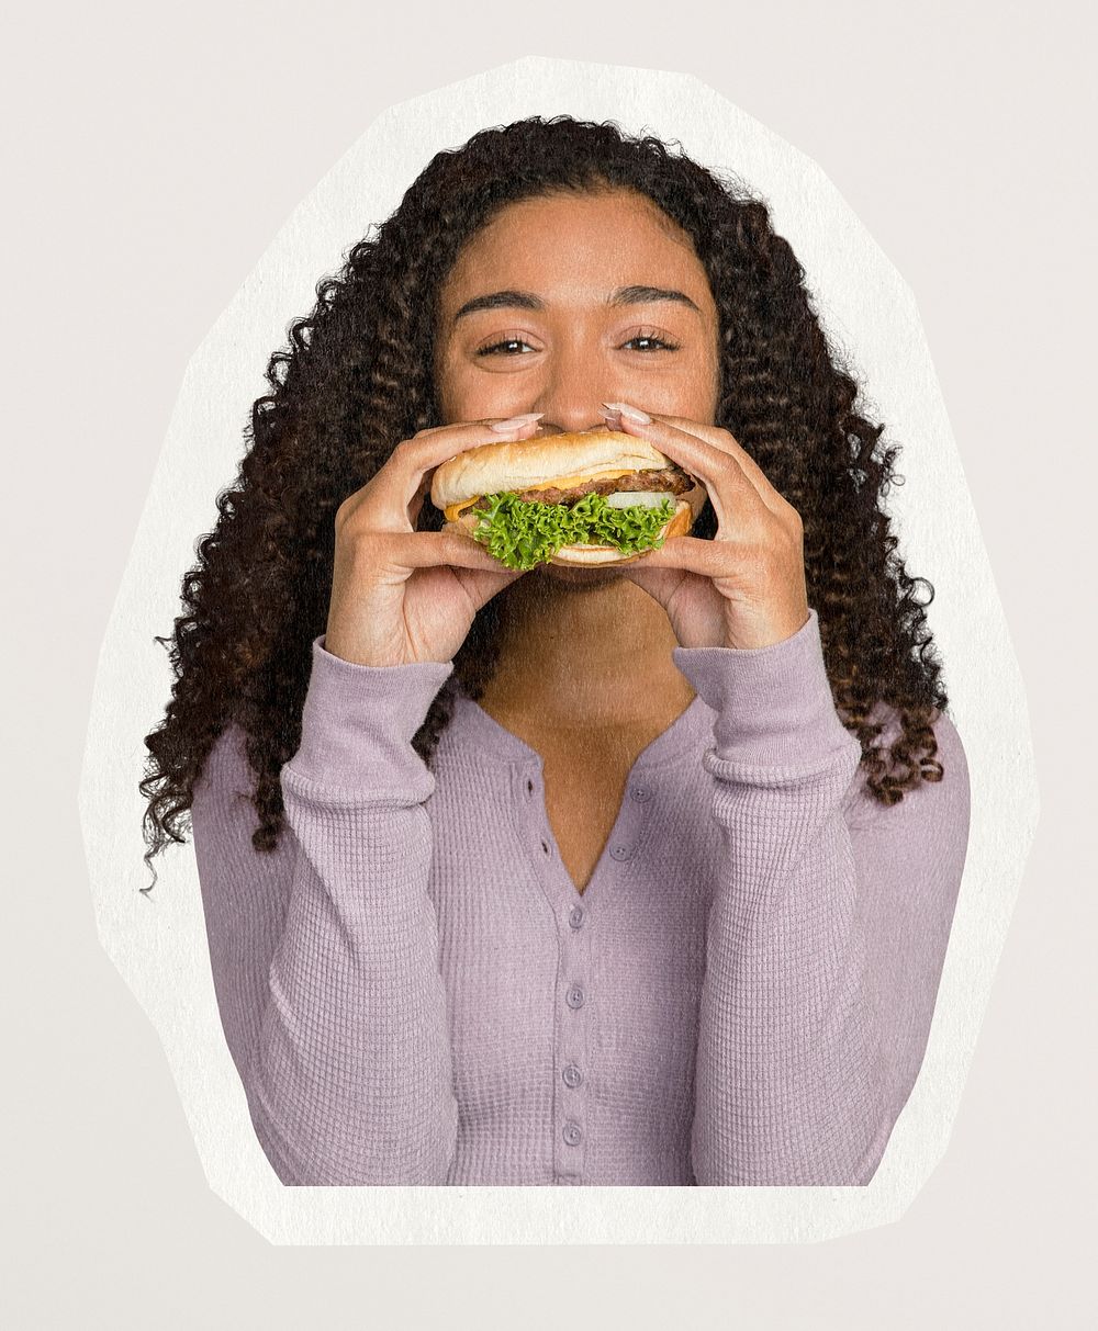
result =
[[[681,417],[644,423],[622,411],[606,409],[604,415],[612,430],[648,439],[697,476],[717,515],[713,540],[673,536],[620,568],[660,602],[680,644],[770,647],[804,628],[809,602],[801,515],[729,431]]]

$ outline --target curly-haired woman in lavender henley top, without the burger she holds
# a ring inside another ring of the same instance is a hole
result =
[[[858,1185],[922,1061],[965,755],[804,270],[653,138],[440,153],[272,358],[147,739],[285,1183]],[[609,423],[686,538],[504,570],[458,451]]]

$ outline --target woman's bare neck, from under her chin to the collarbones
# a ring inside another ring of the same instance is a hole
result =
[[[480,701],[509,729],[654,737],[694,697],[666,612],[626,578],[536,568],[501,594],[500,611],[500,659]]]

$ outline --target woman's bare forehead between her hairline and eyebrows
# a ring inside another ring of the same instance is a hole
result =
[[[672,281],[674,280],[674,281]],[[569,284],[598,294],[629,284],[682,286],[702,303],[709,284],[689,236],[632,190],[550,194],[509,204],[465,244],[442,284],[442,313],[481,290]]]

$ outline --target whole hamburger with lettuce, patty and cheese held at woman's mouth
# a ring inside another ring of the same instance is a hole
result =
[[[685,536],[705,487],[646,439],[617,430],[536,435],[466,449],[436,467],[442,531],[508,568],[624,564]]]

